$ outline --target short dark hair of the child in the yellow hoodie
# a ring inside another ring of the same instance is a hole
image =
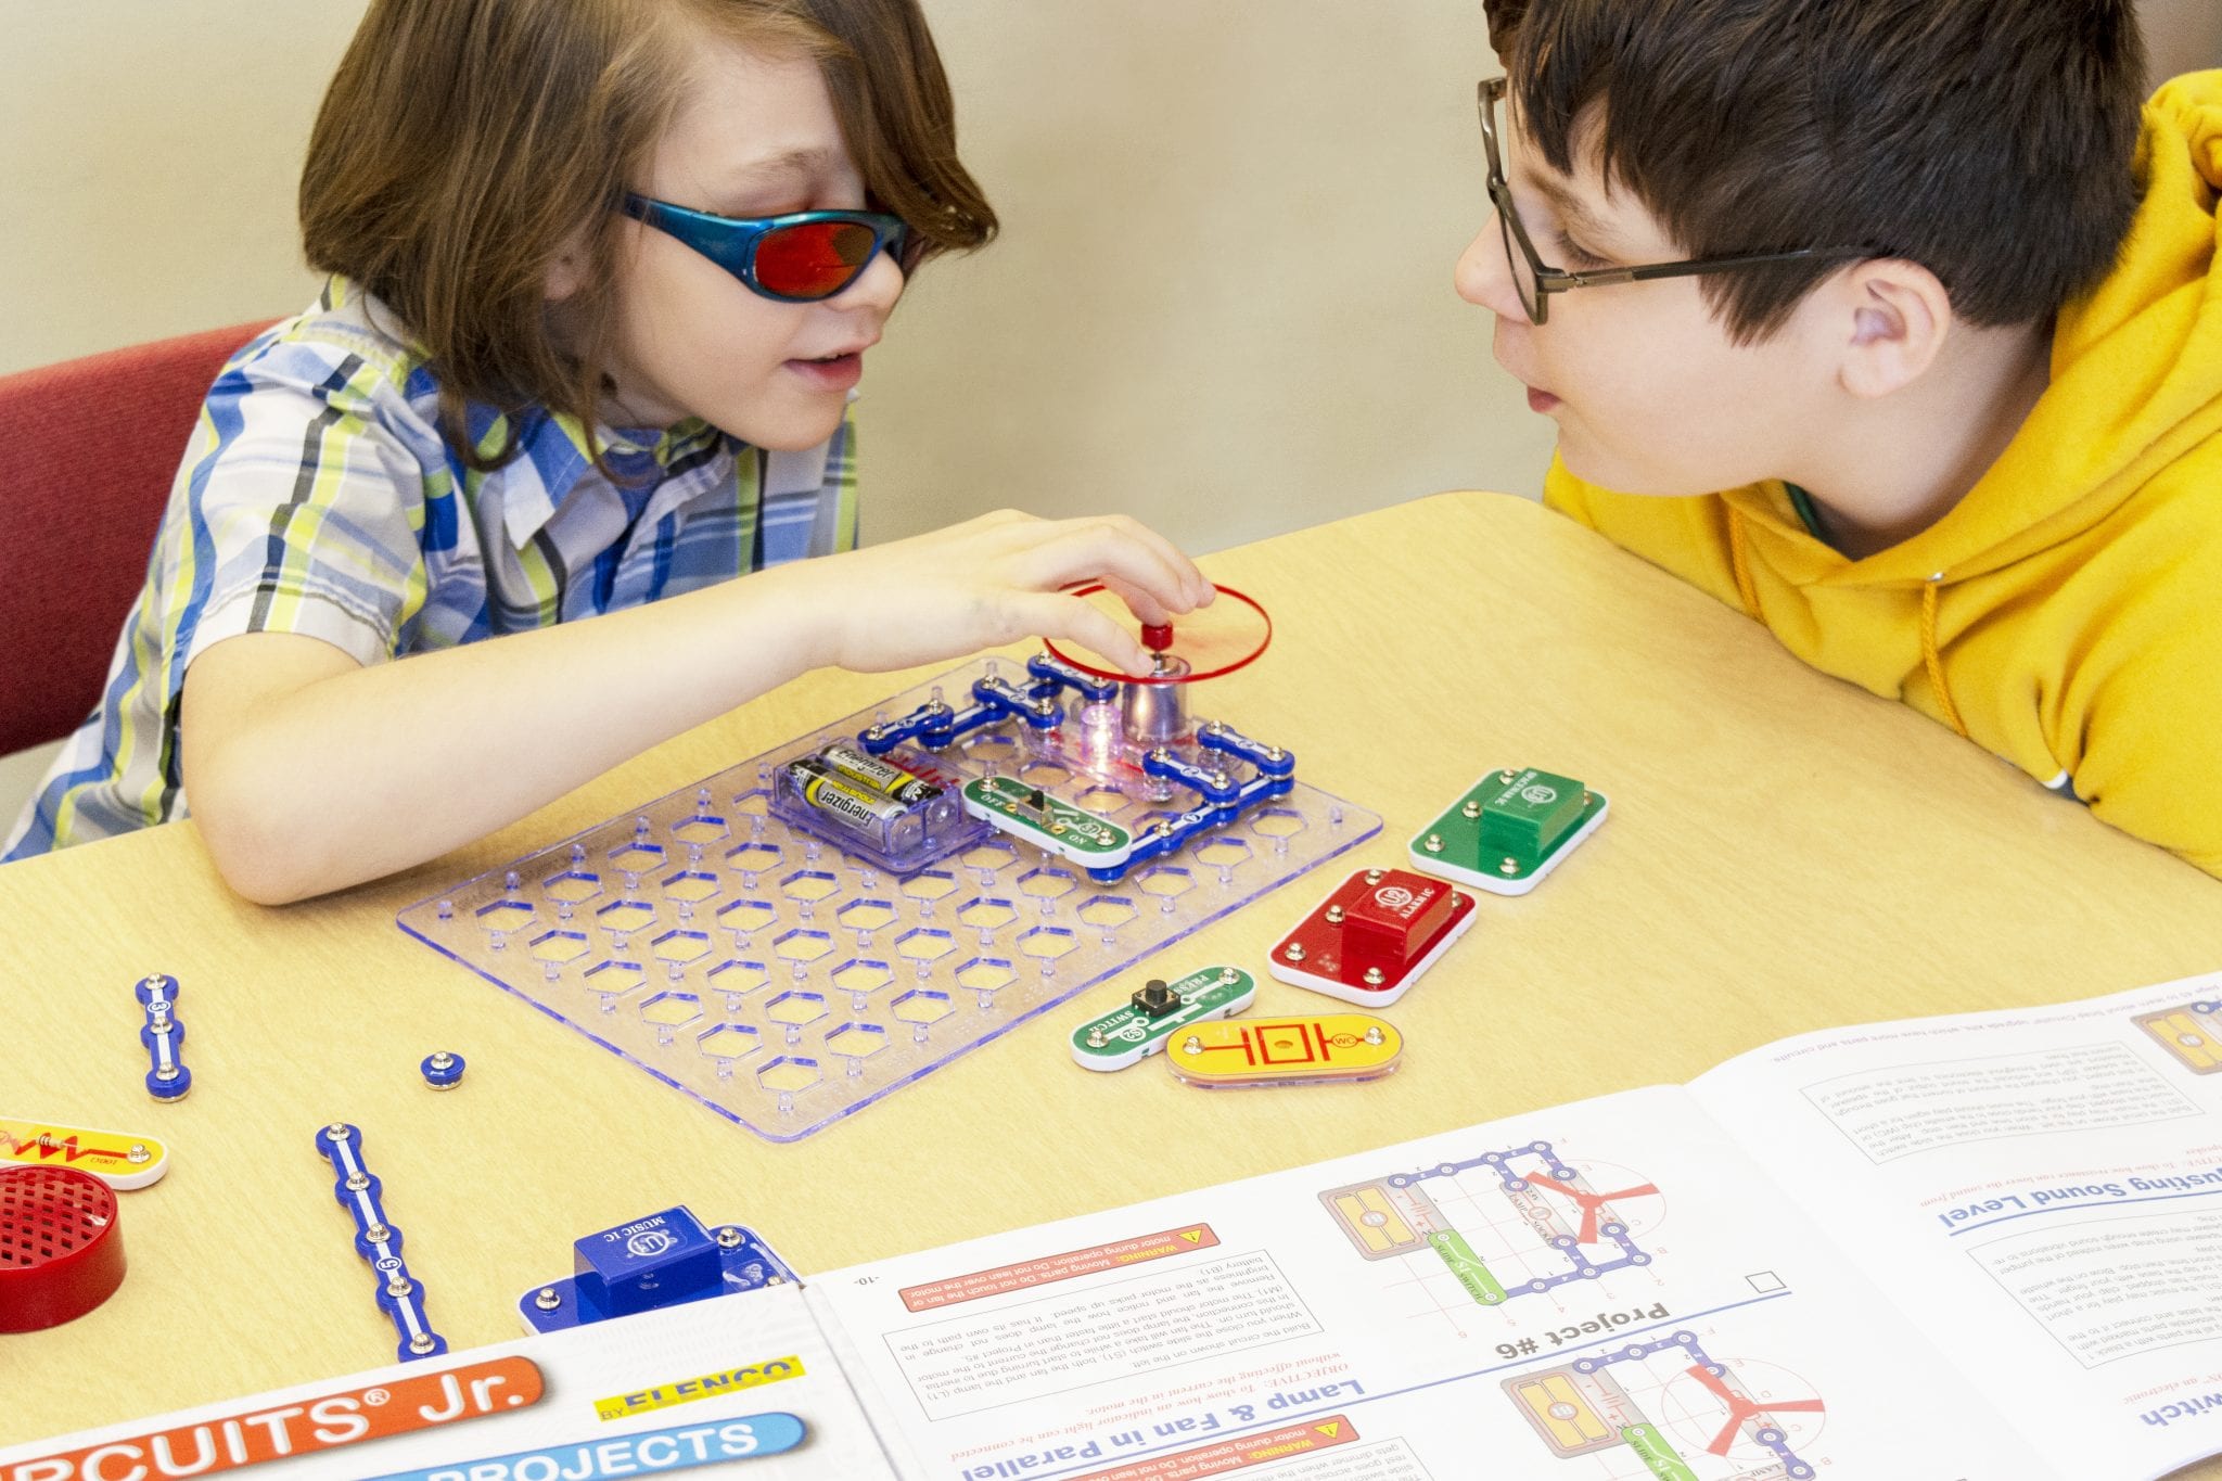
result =
[[[1484,0],[1527,138],[1593,155],[1695,258],[1864,246],[1973,324],[2038,324],[2138,209],[2131,0]],[[1713,273],[1738,342],[1842,260]]]

